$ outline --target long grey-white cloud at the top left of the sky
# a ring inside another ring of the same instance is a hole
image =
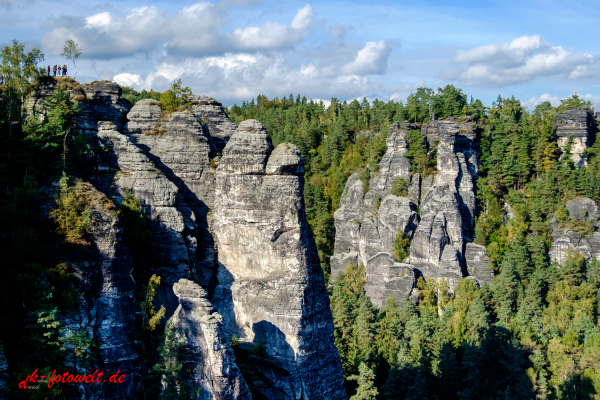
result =
[[[306,4],[289,25],[268,22],[223,32],[225,12],[223,4],[198,2],[174,14],[146,6],[131,10],[125,17],[102,12],[85,18],[58,18],[43,43],[58,54],[65,38],[74,39],[86,49],[84,57],[103,59],[138,53],[206,56],[279,50],[299,43],[315,19],[310,4]]]

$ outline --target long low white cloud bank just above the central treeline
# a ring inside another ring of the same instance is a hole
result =
[[[337,74],[335,68],[318,62],[290,67],[285,57],[277,53],[230,53],[187,58],[176,64],[165,57],[157,61],[155,70],[145,78],[137,74],[114,77],[117,82],[136,89],[155,90],[166,89],[178,78],[195,93],[213,96],[225,103],[247,100],[261,93],[274,97],[299,91],[313,99],[326,99],[332,93],[347,99],[380,89],[368,76]]]

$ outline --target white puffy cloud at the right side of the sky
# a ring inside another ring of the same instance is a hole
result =
[[[467,85],[503,87],[560,74],[570,79],[600,76],[597,57],[552,46],[538,35],[460,50],[454,62],[462,64],[462,70],[446,77]]]

